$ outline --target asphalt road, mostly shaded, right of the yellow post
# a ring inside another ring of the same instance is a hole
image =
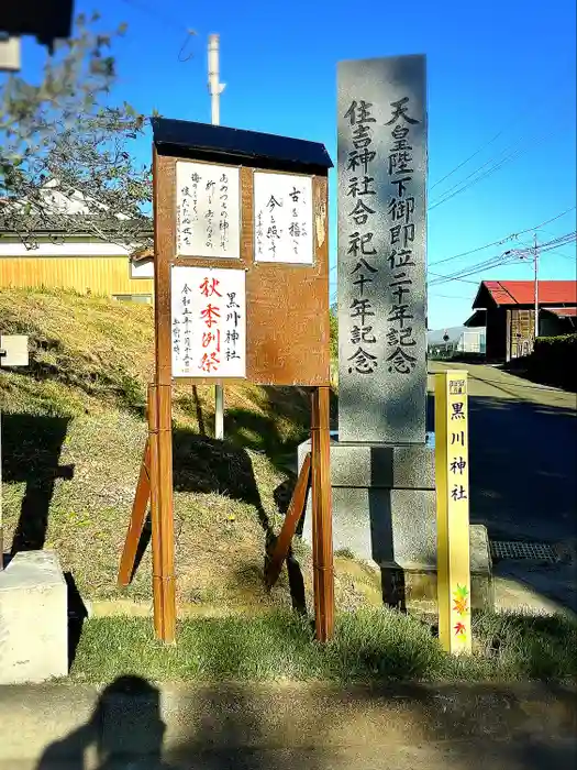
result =
[[[576,394],[492,366],[451,367],[469,373],[471,522],[492,539],[575,543]],[[444,369],[430,362],[431,373]]]

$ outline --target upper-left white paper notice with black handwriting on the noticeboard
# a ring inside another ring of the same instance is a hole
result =
[[[240,178],[234,166],[177,161],[178,254],[240,257]]]

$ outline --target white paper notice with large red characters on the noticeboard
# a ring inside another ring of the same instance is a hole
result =
[[[244,270],[173,266],[174,377],[246,377]]]

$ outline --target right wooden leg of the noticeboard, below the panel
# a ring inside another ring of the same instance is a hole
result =
[[[328,641],[334,630],[333,526],[331,510],[330,387],[312,392],[312,569],[317,639]]]

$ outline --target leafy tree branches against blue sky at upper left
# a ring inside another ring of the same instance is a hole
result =
[[[98,22],[80,15],[38,84],[11,75],[0,95],[0,226],[29,248],[38,230],[81,227],[122,244],[146,242],[151,232],[151,167],[130,152],[146,120],[126,102],[109,103],[112,41],[126,28],[102,34]]]

